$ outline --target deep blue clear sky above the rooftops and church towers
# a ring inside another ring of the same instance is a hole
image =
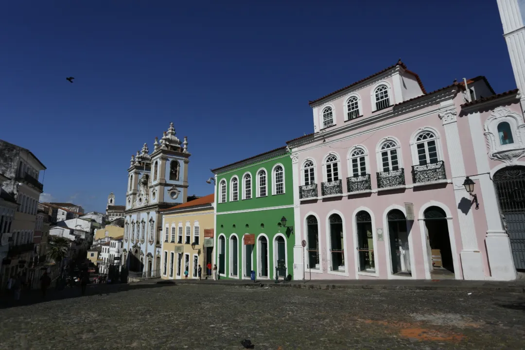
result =
[[[427,91],[516,87],[496,0],[5,1],[0,23],[0,139],[86,210],[124,204],[131,155],[170,122],[206,195],[210,168],[312,132],[308,100],[400,57]]]

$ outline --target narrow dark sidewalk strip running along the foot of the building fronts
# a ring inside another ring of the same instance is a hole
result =
[[[169,283],[169,282],[157,282]],[[198,281],[174,281],[173,284],[201,284],[201,285],[228,285],[230,287],[248,287],[248,288],[299,288],[299,289],[373,289],[373,290],[432,290],[432,291],[490,291],[490,292],[508,292],[508,293],[525,293],[525,286],[507,285],[388,285],[388,284],[303,284],[303,283],[269,283],[257,281],[256,283],[236,283],[236,282],[198,282]]]

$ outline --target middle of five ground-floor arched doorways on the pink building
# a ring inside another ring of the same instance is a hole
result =
[[[367,211],[361,210],[355,215],[358,233],[359,271],[375,273],[374,239],[372,218]]]

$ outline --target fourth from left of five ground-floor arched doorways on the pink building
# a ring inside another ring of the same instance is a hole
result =
[[[412,275],[405,214],[399,209],[393,209],[388,211],[386,217],[388,220],[392,274]]]

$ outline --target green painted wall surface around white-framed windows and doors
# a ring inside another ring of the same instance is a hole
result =
[[[284,169],[285,177],[285,193],[280,195],[272,195],[272,188],[274,186],[272,168],[276,164],[281,164]],[[265,168],[267,173],[267,196],[257,197],[257,173],[260,168]],[[242,199],[243,191],[243,176],[246,172],[251,174],[252,178],[252,193],[251,199]],[[282,234],[286,240],[286,268],[287,275],[293,276],[293,245],[295,245],[295,236],[289,228],[280,226],[280,220],[283,216],[288,221],[288,226],[293,226],[293,178],[292,178],[292,162],[289,153],[278,155],[265,161],[255,160],[253,164],[245,165],[230,171],[218,171],[217,185],[216,185],[216,227],[215,227],[215,259],[217,266],[220,269],[219,254],[220,254],[220,243],[219,237],[224,235],[224,262],[225,262],[225,276],[220,278],[243,278],[243,268],[245,268],[245,261],[243,260],[244,235],[254,234],[255,245],[253,245],[253,252],[251,254],[251,269],[256,271],[256,279],[259,280],[259,268],[257,263],[259,259],[259,239],[261,237],[268,238],[268,278],[275,279],[275,259],[274,247],[276,246],[275,238],[278,234]],[[237,175],[239,179],[239,200],[230,201],[230,180],[234,175]],[[219,188],[220,182],[226,180],[226,203],[218,203],[220,198]],[[287,208],[278,208],[288,206]],[[260,210],[257,210],[260,209]],[[250,211],[243,211],[250,210]],[[241,211],[240,213],[238,211]],[[233,213],[232,213],[233,212]],[[264,227],[263,227],[264,226]],[[237,276],[232,275],[233,266],[230,256],[231,251],[231,238],[233,234],[237,236]],[[277,252],[276,252],[277,255]],[[249,272],[248,272],[249,276]],[[282,280],[281,277],[279,277]]]

